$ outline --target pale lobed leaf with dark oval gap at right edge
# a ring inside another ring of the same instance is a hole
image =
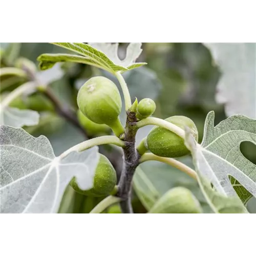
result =
[[[251,195],[256,196],[256,166],[243,156],[240,144],[256,144],[256,120],[234,115],[214,127],[214,116],[214,112],[207,115],[201,145],[193,141],[188,131],[186,143],[199,176],[212,183],[222,196],[239,196],[246,203]]]

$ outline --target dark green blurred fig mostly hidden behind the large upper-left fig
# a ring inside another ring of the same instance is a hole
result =
[[[83,115],[83,113],[78,110],[77,118],[79,123],[86,129],[89,136],[100,135],[100,134],[110,134],[110,127],[106,124],[98,124],[91,121],[89,118]]]

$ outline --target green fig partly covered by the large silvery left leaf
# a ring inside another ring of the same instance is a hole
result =
[[[99,162],[95,171],[93,188],[88,190],[80,189],[76,182],[76,178],[71,180],[70,185],[80,194],[102,197],[110,195],[115,188],[116,183],[117,176],[113,165],[108,158],[100,154]]]

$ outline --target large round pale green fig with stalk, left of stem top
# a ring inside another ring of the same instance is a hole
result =
[[[119,137],[124,129],[119,119],[122,100],[116,84],[103,76],[89,79],[80,88],[77,104],[84,116],[111,127]]]

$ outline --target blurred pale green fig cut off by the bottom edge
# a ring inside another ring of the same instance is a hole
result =
[[[148,214],[202,214],[202,208],[190,190],[175,187],[168,190]]]

